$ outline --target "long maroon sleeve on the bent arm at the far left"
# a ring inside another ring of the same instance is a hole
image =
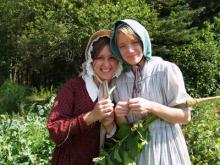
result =
[[[87,126],[83,113],[75,114],[77,96],[74,90],[76,88],[73,87],[71,81],[64,84],[48,117],[47,128],[50,138],[58,146],[64,143],[69,136],[77,136],[93,126],[93,124]]]

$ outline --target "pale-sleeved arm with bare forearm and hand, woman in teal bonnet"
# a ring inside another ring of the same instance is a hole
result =
[[[175,64],[169,63],[164,69],[164,75],[162,93],[165,93],[167,106],[143,98],[135,98],[129,100],[129,108],[134,114],[149,112],[171,123],[186,124],[191,120],[190,110],[173,108],[191,98],[186,93],[182,73]]]

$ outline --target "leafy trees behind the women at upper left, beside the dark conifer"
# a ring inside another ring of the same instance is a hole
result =
[[[7,57],[5,61],[15,79],[19,79],[16,71],[23,81],[37,87],[52,83],[57,86],[78,75],[89,36],[111,28],[115,20],[135,18],[145,25],[156,25],[156,15],[144,1],[24,0],[0,3],[0,11],[0,19],[4,20],[0,32],[7,41],[2,39],[6,43],[0,47],[6,52],[2,57]]]

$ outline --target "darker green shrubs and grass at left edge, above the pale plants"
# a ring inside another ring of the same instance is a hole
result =
[[[7,80],[0,87],[0,113],[12,115],[15,112],[25,115],[34,112],[46,116],[50,112],[55,96],[56,91],[53,87],[30,89]]]

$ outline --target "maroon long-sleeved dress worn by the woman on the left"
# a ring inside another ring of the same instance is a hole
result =
[[[99,153],[100,123],[87,126],[83,114],[94,105],[82,77],[64,84],[47,123],[50,138],[56,144],[52,165],[93,164],[92,159]]]

